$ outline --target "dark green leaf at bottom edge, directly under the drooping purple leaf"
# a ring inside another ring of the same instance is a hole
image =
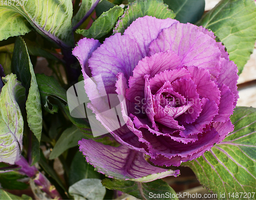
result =
[[[178,199],[174,189],[161,179],[148,183],[104,179],[102,185],[108,189],[119,190],[139,199]],[[154,194],[155,196],[153,196]]]

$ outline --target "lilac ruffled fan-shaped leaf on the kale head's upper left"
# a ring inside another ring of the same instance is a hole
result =
[[[88,62],[92,76],[101,75],[106,93],[115,93],[117,74],[122,72],[128,80],[141,58],[135,41],[117,33],[106,38]]]

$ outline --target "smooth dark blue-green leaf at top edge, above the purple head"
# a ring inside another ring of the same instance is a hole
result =
[[[204,14],[205,0],[164,0],[181,23],[195,23]]]

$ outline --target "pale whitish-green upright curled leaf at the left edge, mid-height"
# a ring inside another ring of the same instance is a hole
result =
[[[25,88],[12,73],[3,81],[6,84],[0,94],[0,162],[14,164],[23,147],[24,121],[18,103],[25,99]]]

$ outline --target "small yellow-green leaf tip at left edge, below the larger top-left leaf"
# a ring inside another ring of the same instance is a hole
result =
[[[29,22],[13,9],[2,7],[2,2],[0,2],[0,24],[0,41],[12,36],[25,35],[31,31]]]

